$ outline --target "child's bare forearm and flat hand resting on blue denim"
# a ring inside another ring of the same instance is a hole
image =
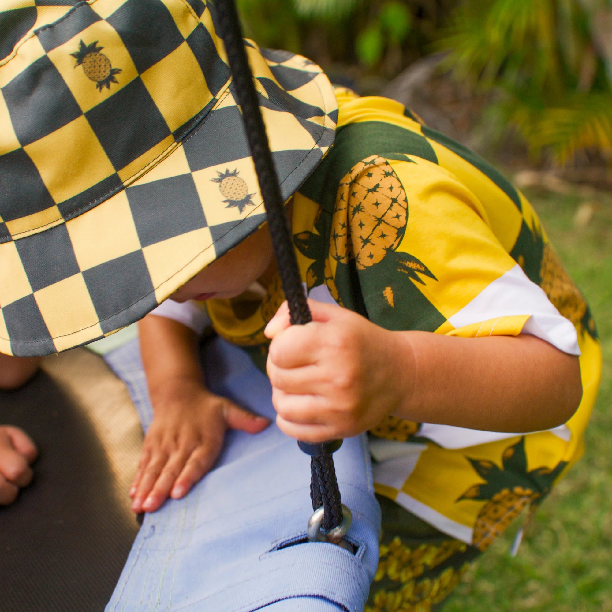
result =
[[[191,329],[147,315],[139,330],[154,417],[130,496],[135,512],[153,512],[169,495],[184,496],[212,468],[227,428],[256,433],[268,420],[206,389]]]

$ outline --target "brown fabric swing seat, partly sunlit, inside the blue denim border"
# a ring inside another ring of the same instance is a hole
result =
[[[34,480],[0,507],[0,610],[102,612],[138,533],[127,490],[142,431],[103,359],[75,349],[0,392],[0,422],[39,447]]]

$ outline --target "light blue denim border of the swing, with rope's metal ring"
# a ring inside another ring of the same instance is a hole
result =
[[[152,409],[138,340],[105,359],[146,430]],[[106,612],[363,612],[380,532],[365,435],[334,455],[356,554],[299,543],[312,512],[310,458],[274,424],[269,381],[244,350],[217,337],[203,345],[202,360],[212,392],[272,424],[256,435],[228,431],[215,468],[184,499],[145,515]]]

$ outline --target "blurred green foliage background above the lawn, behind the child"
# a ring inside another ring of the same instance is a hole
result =
[[[239,0],[239,7],[260,45],[302,53],[360,94],[390,95],[417,113],[420,104],[426,122],[477,149],[507,151],[510,142],[532,164],[550,167],[612,163],[612,0]],[[444,102],[432,121],[432,107]]]

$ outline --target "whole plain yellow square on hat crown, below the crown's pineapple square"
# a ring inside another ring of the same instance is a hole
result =
[[[114,173],[83,115],[24,147],[53,199],[59,203]]]

